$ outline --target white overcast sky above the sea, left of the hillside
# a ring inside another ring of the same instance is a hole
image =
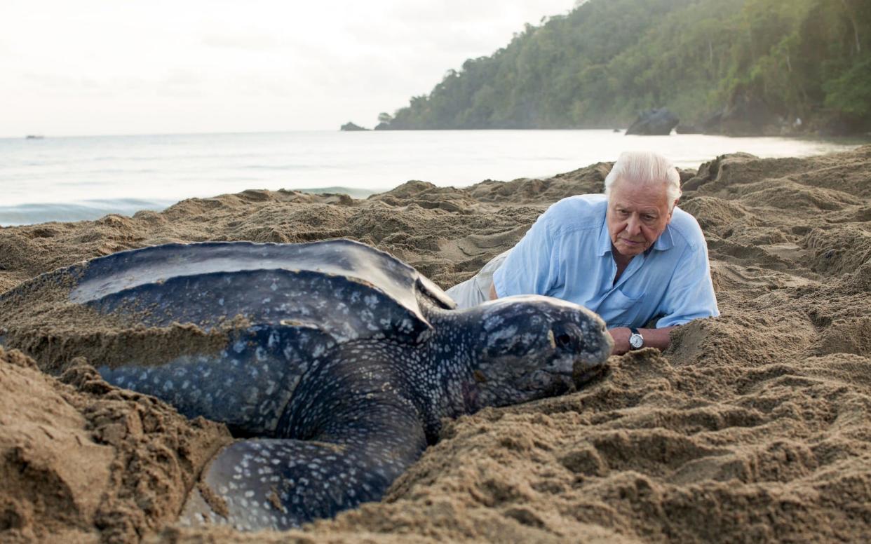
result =
[[[0,137],[371,127],[574,0],[0,0]]]

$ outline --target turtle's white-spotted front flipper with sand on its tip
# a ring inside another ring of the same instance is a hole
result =
[[[377,400],[321,440],[241,440],[215,456],[188,497],[183,525],[287,529],[380,500],[426,447],[407,406]],[[328,440],[328,441],[327,441]]]

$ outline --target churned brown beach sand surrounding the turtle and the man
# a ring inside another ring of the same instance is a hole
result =
[[[466,189],[411,181],[365,200],[244,191],[0,229],[0,291],[144,245],[337,237],[448,287],[550,203],[599,191],[609,167]],[[381,503],[288,534],[173,527],[231,440],[224,426],[108,386],[86,359],[0,350],[0,541],[867,541],[871,146],[729,155],[682,178],[719,319],[681,327],[665,353],[612,357],[580,392],[449,423]]]

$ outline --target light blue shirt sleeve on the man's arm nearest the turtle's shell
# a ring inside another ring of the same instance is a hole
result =
[[[556,283],[559,255],[550,229],[549,212],[551,209],[538,216],[493,274],[493,285],[499,297],[544,295]]]

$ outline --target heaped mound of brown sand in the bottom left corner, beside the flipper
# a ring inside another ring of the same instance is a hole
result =
[[[200,467],[231,440],[84,359],[59,378],[0,347],[0,537],[136,541],[171,522]]]

